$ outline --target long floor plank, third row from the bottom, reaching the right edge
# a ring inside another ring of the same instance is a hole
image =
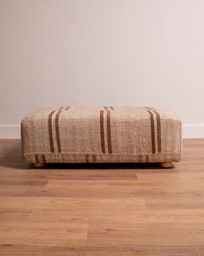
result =
[[[157,209],[138,209],[134,206],[122,205],[119,207],[105,207],[102,205],[90,207],[70,207],[57,209],[36,209],[29,216],[32,222],[88,222],[94,223],[96,226],[101,224],[148,224],[148,223],[201,223],[204,224],[204,209],[173,209],[160,210]]]

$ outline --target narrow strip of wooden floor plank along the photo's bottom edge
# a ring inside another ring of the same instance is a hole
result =
[[[78,245],[67,243],[67,246],[30,246],[30,245],[0,245],[1,256],[202,256],[204,245],[179,245],[179,246],[155,246],[155,245],[135,245],[134,243],[124,246],[117,245],[97,245],[81,241]]]

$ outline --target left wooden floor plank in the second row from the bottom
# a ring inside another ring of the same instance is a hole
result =
[[[0,244],[66,246],[68,240],[86,240],[86,223],[1,222]]]

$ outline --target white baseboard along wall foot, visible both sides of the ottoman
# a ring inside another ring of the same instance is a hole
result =
[[[183,138],[204,138],[204,124],[184,124]],[[21,128],[19,124],[1,124],[0,139],[20,139]]]

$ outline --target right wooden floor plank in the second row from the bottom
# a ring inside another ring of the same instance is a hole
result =
[[[88,239],[100,245],[113,245],[115,241],[123,245],[181,246],[204,243],[204,224],[197,223],[98,223],[90,224]]]

